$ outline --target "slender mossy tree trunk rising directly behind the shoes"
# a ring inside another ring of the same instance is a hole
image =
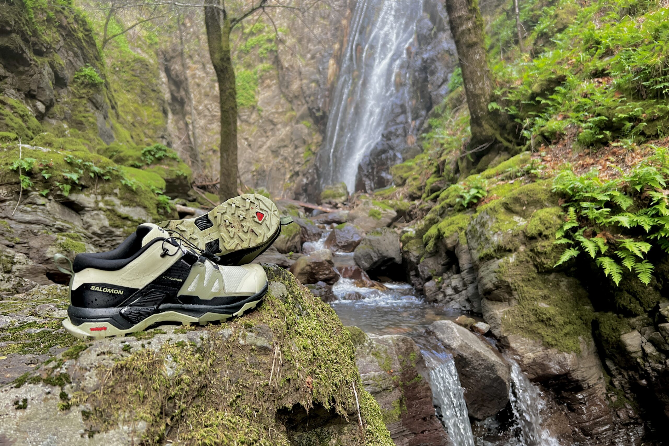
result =
[[[216,72],[221,110],[221,202],[237,195],[237,94],[230,54],[231,23],[216,0],[205,0],[205,27],[211,64]]]

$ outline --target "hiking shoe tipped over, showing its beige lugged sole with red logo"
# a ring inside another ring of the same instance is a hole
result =
[[[202,251],[219,257],[221,265],[244,265],[262,254],[292,222],[280,217],[274,202],[259,194],[231,198],[192,219],[158,223]]]

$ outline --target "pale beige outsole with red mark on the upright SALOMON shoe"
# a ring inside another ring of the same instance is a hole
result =
[[[126,334],[140,332],[159,322],[181,322],[183,325],[207,325],[209,322],[223,322],[233,317],[242,316],[242,314],[256,308],[260,302],[262,302],[263,297],[264,296],[260,296],[258,300],[246,302],[246,304],[244,304],[240,310],[231,312],[230,314],[206,312],[202,316],[195,317],[177,311],[156,313],[126,330],[117,328],[110,322],[84,322],[80,325],[74,325],[72,324],[72,321],[70,321],[69,317],[63,320],[63,327],[76,338],[100,339],[108,338],[110,336],[125,336]]]

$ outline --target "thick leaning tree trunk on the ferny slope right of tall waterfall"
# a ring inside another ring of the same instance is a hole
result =
[[[492,82],[485,48],[483,19],[477,0],[446,0],[446,11],[453,39],[458,50],[462,81],[470,114],[472,139],[466,151],[472,165],[485,154],[510,147],[511,142],[502,134],[506,116],[490,110]]]

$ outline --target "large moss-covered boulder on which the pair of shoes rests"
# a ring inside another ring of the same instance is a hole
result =
[[[237,322],[166,325],[89,342],[61,334],[60,320],[47,314],[60,318],[62,310],[39,310],[38,295],[23,308],[4,306],[0,354],[10,361],[37,355],[41,365],[32,362],[0,387],[0,438],[17,446],[88,445],[91,438],[111,446],[157,438],[190,445],[204,437],[217,444],[393,445],[336,314],[285,271],[270,268],[268,277],[262,306]],[[63,297],[54,297],[56,308],[67,305]],[[35,316],[20,314],[27,308]]]

